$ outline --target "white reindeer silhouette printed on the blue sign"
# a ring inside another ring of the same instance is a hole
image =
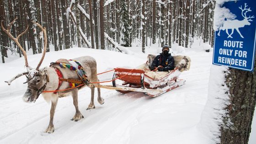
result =
[[[248,11],[251,11],[251,8],[246,8],[248,5],[245,3],[245,8],[242,9],[242,5],[239,7],[239,9],[242,11],[242,16],[244,17],[244,20],[239,21],[239,20],[228,20],[228,21],[224,21],[223,26],[219,29],[219,33],[218,36],[220,36],[220,31],[221,30],[226,30],[226,33],[228,34],[228,38],[233,38],[232,34],[234,33],[234,29],[240,34],[240,37],[244,38],[241,34],[241,32],[239,31],[240,27],[245,27],[246,25],[250,26],[251,23],[250,21],[251,18],[254,18],[254,16],[246,16],[246,13]],[[229,29],[232,30],[232,32],[229,34]]]

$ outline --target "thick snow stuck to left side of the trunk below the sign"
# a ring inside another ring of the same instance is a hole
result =
[[[203,132],[212,140],[212,143],[220,143],[220,125],[222,117],[227,111],[224,108],[229,105],[229,88],[225,84],[225,76],[228,67],[212,65],[208,86],[208,101],[201,115],[200,125]]]

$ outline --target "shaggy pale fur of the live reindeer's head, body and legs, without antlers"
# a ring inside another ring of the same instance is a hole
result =
[[[82,67],[84,68],[87,76],[87,80],[89,82],[98,82],[98,77],[97,77],[97,65],[95,59],[93,59],[90,56],[84,56],[80,58],[76,58]],[[69,63],[67,59],[59,59],[57,62],[61,63]],[[43,85],[46,84],[46,87],[44,88],[44,91],[54,91],[58,88],[59,85],[59,77],[55,71],[54,68],[58,68],[61,73],[63,74],[64,79],[68,78],[74,78],[74,79],[80,79],[77,73],[74,70],[70,70],[68,68],[61,68],[58,64],[53,64],[53,66],[48,67],[48,68],[43,68],[39,69],[39,72],[33,76],[31,74],[32,80],[28,82],[28,88],[23,96],[23,100],[26,102],[32,102],[36,99],[37,97],[37,92],[38,89],[42,88]],[[46,81],[46,77],[49,77],[49,82]],[[98,85],[98,84],[94,84]],[[62,85],[60,86],[59,90],[67,89],[69,88],[69,83],[68,82],[63,82]],[[83,86],[85,87],[85,86]],[[91,102],[87,108],[88,109],[93,109],[95,108],[94,105],[94,87],[91,88]],[[79,108],[78,108],[78,90],[81,88],[75,88],[71,89],[68,91],[59,91],[57,94],[51,93],[43,93],[43,98],[48,101],[52,102],[51,110],[50,110],[50,122],[48,125],[48,128],[45,130],[46,133],[53,133],[54,132],[54,126],[53,126],[53,116],[55,112],[55,108],[58,102],[59,97],[64,97],[64,96],[69,96],[71,95],[73,97],[73,104],[75,106],[75,115],[71,120],[79,121],[81,118],[84,116],[80,113]],[[100,88],[97,88],[98,90],[98,102],[100,104],[104,103],[104,99],[101,97],[101,91]]]

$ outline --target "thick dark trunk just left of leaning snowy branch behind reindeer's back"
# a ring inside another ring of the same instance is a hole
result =
[[[70,33],[69,33],[69,25],[66,16],[66,0],[61,0],[61,13],[62,13],[62,24],[64,30],[64,42],[65,49],[70,48]]]

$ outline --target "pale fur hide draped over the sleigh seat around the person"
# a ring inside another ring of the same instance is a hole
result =
[[[145,69],[146,75],[150,76],[153,79],[159,79],[167,75],[169,72],[166,71],[150,71],[149,68],[153,63],[153,60],[155,59],[156,55],[149,54],[147,57],[147,62],[145,64],[141,64],[137,67],[137,69]],[[189,70],[190,69],[190,62],[191,59],[188,56],[184,55],[177,55],[177,56],[172,56],[174,58],[174,66],[179,68],[181,72],[184,70]]]

